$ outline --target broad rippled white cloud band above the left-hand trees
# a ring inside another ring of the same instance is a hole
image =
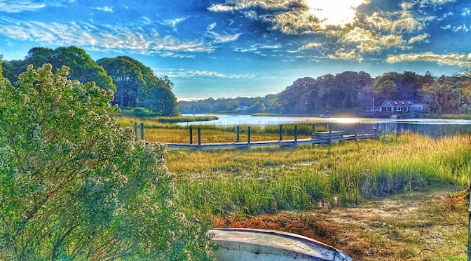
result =
[[[146,55],[164,52],[211,53],[214,43],[161,36],[153,27],[91,25],[86,22],[39,22],[0,18],[0,34],[17,40],[54,46],[77,45],[104,51],[125,50]]]

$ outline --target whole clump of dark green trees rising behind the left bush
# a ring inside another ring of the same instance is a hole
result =
[[[0,75],[1,73],[0,60]],[[178,102],[172,92],[173,83],[167,76],[159,78],[133,58],[119,56],[93,60],[76,46],[56,49],[36,47],[29,50],[25,60],[3,61],[3,76],[13,84],[28,65],[41,67],[45,63],[58,69],[69,67],[69,78],[114,91],[114,104],[119,107],[144,107],[159,115],[179,114]]]

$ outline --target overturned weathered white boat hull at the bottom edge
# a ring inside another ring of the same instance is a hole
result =
[[[266,229],[212,229],[218,261],[352,260],[346,253],[306,236]]]

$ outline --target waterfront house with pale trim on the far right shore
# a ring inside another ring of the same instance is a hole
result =
[[[410,113],[410,112],[428,112],[430,105],[423,103],[415,103],[411,100],[385,100],[379,106],[365,107],[366,112],[383,112],[383,113]]]

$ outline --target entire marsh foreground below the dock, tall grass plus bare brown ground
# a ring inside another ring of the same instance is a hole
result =
[[[303,234],[355,260],[462,260],[470,159],[468,135],[405,133],[330,149],[175,149],[166,165],[179,207],[215,227]]]

